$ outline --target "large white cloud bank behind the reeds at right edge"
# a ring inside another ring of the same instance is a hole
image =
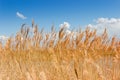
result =
[[[109,36],[120,37],[120,19],[117,18],[98,18],[95,24],[88,24],[88,27],[97,29],[98,33],[102,33],[106,28]]]

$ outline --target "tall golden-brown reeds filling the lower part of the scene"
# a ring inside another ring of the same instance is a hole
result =
[[[66,34],[22,25],[0,43],[0,80],[120,80],[120,39],[107,29]],[[3,45],[4,44],[4,45]]]

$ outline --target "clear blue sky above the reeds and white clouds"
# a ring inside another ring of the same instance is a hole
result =
[[[49,30],[65,21],[71,29],[96,26],[99,18],[119,20],[120,0],[0,0],[0,35],[15,34],[23,23],[31,25],[32,19],[39,28]]]

